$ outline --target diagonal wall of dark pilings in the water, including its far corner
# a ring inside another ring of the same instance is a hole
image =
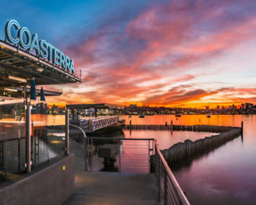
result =
[[[174,144],[168,149],[161,150],[166,162],[171,165],[177,164],[184,159],[193,159],[197,156],[202,156],[205,153],[209,153],[210,150],[226,144],[229,140],[242,135],[242,128],[236,127],[200,125],[200,131],[217,132],[219,134],[195,140],[194,142],[185,140],[184,143]]]

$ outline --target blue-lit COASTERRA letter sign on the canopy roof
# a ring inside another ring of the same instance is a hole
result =
[[[5,37],[9,43],[18,44],[21,49],[27,52],[34,52],[37,56],[47,59],[65,69],[75,73],[74,61],[59,51],[56,47],[47,43],[44,39],[38,39],[37,33],[31,36],[30,30],[27,27],[21,27],[17,21],[8,21],[5,25]]]

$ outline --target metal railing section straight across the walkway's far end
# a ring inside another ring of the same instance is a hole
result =
[[[151,172],[154,139],[87,137],[85,170],[121,173]]]

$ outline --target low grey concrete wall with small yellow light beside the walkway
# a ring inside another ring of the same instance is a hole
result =
[[[62,170],[62,166],[66,166]],[[24,179],[0,188],[2,205],[62,204],[75,189],[75,156],[66,156]]]

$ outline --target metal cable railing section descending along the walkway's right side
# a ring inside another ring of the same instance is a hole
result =
[[[163,200],[165,204],[190,204],[157,144],[155,144],[155,178],[159,201]]]

